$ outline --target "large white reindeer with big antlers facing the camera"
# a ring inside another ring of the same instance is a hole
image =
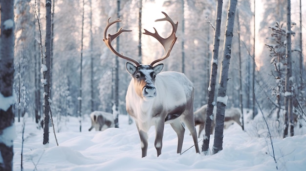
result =
[[[163,57],[154,60],[150,65],[140,64],[137,60],[118,53],[112,47],[111,41],[113,39],[122,32],[131,31],[121,27],[115,34],[106,36],[109,26],[122,20],[115,19],[109,22],[109,18],[104,31],[103,41],[110,51],[136,65],[130,62],[126,63],[126,70],[132,77],[126,95],[126,109],[135,120],[141,141],[142,157],[147,155],[148,131],[153,125],[155,126],[154,146],[157,156],[161,154],[164,124],[166,123],[169,123],[177,134],[177,153],[182,151],[185,132],[181,122],[185,123],[185,126],[192,134],[196,152],[199,153],[193,113],[194,87],[192,82],[182,73],[161,72],[164,66],[162,63],[154,66],[155,63],[170,56],[170,52],[177,39],[175,32],[178,23],[175,24],[166,13],[162,13],[165,15],[165,18],[155,21],[169,21],[173,31],[168,38],[162,38],[155,28],[155,33],[145,29],[143,34],[156,38],[162,44],[165,52]]]

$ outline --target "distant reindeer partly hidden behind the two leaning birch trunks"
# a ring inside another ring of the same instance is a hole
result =
[[[207,104],[203,105],[200,107],[196,112],[195,112],[195,125],[199,125],[199,131],[198,131],[198,137],[200,137],[201,132],[203,131],[205,127],[205,122],[206,122],[206,112],[207,112]],[[216,112],[217,109],[214,107],[213,110],[213,120],[212,120],[212,128],[210,133],[213,134],[215,130],[215,125],[216,125]],[[224,116],[224,129],[228,128],[230,125],[232,125],[234,122],[238,123],[241,126],[240,123],[240,116],[241,112],[240,109],[238,108],[230,108],[230,109],[225,109],[225,116]]]

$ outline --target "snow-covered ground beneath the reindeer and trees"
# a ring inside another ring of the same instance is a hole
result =
[[[55,119],[56,121],[57,119]],[[17,122],[18,137],[14,141],[14,171],[21,171],[22,122]],[[273,138],[276,163],[267,137],[243,132],[238,124],[224,130],[223,150],[215,155],[197,154],[195,148],[183,154],[176,153],[176,133],[165,126],[162,154],[157,157],[154,148],[154,128],[149,131],[148,156],[141,158],[140,140],[135,124],[128,124],[126,115],[119,116],[119,129],[88,132],[89,116],[79,121],[74,117],[62,118],[61,132],[56,133],[56,146],[52,127],[50,143],[43,145],[43,130],[38,130],[32,118],[25,121],[23,144],[23,171],[305,171],[306,135]],[[246,125],[252,129],[254,124]],[[246,130],[247,130],[246,129]],[[262,131],[261,131],[262,132]],[[264,134],[264,132],[262,132]],[[201,138],[199,138],[201,140]],[[211,136],[211,145],[214,136]],[[186,129],[183,150],[193,144]],[[201,149],[202,141],[199,142]]]

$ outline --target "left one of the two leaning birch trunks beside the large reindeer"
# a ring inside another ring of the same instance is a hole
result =
[[[205,154],[208,154],[211,125],[212,125],[212,118],[213,118],[213,110],[215,106],[213,102],[215,98],[216,79],[217,79],[217,72],[218,72],[218,56],[219,56],[219,44],[220,44],[222,4],[223,4],[223,0],[218,0],[216,20],[215,20],[214,50],[213,50],[212,67],[211,67],[212,69],[211,69],[210,82],[209,82],[209,88],[208,88],[207,113],[206,113],[206,121],[205,121],[205,136],[203,138],[203,144],[202,144],[202,152],[204,152]]]

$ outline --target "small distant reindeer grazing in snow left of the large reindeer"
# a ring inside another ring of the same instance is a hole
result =
[[[115,127],[113,115],[107,112],[94,111],[90,114],[91,127],[88,131],[95,128],[96,131],[104,131]]]

